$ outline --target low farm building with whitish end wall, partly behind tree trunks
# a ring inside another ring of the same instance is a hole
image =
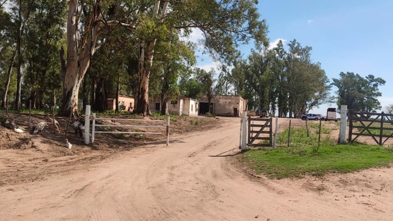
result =
[[[150,111],[160,112],[161,110],[161,98],[159,96],[154,97],[149,102]],[[185,96],[176,96],[175,98],[168,100],[166,104],[168,113],[175,113],[178,115],[197,116],[198,115],[198,101]]]

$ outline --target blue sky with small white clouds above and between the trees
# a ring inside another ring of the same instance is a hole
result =
[[[381,77],[386,81],[379,87],[382,109],[393,104],[393,0],[259,0],[257,7],[269,26],[271,45],[296,39],[311,46],[312,61],[321,63],[330,82],[341,71]],[[252,47],[242,46],[244,57]],[[198,60],[206,70],[217,65],[206,55]],[[337,106],[326,104],[310,112],[324,114],[327,107]]]

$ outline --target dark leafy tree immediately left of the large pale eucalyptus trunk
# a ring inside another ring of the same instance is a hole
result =
[[[37,0],[35,11],[31,13],[30,20],[27,22],[28,35],[25,37],[24,50],[26,68],[23,78],[28,91],[26,107],[29,100],[33,108],[42,107],[45,95],[52,100],[53,93],[56,90],[60,92],[59,53],[65,44],[63,41],[65,12],[66,3],[62,0]]]

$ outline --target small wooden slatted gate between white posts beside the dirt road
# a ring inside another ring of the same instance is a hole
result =
[[[262,142],[260,140],[262,140]],[[257,147],[272,146],[272,118],[248,117],[247,145]]]

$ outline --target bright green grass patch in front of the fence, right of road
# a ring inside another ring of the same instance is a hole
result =
[[[256,174],[280,179],[387,167],[393,163],[393,149],[370,145],[321,145],[317,154],[312,146],[249,150],[240,160]]]

